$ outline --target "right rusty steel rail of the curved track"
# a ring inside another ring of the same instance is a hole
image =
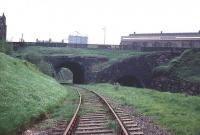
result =
[[[90,91],[90,90],[89,90]],[[112,112],[112,115],[116,118],[120,128],[122,131],[120,131],[120,134],[122,135],[129,135],[128,131],[126,130],[126,128],[124,127],[123,123],[121,122],[120,118],[118,117],[118,115],[115,113],[115,111],[113,110],[113,108],[111,107],[111,105],[106,101],[106,99],[104,97],[102,97],[101,95],[99,95],[98,93],[91,91],[94,94],[96,94],[110,109],[110,111]]]

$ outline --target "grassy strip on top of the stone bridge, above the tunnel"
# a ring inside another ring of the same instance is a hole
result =
[[[134,52],[129,50],[92,50],[92,49],[83,49],[83,48],[59,48],[59,47],[38,47],[31,46],[23,49],[19,49],[15,52],[15,56],[93,56],[93,57],[104,57],[109,60],[105,63],[101,63],[98,66],[101,66],[100,69],[105,68],[115,62],[120,62],[123,59],[140,56],[146,54],[144,52]]]

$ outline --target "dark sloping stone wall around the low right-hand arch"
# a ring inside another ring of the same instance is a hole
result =
[[[118,82],[126,86],[150,87],[153,69],[170,61],[180,53],[156,52],[131,57],[97,73],[97,82]]]

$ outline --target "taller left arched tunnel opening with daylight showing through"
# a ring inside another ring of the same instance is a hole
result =
[[[65,70],[65,71],[63,71],[63,70]],[[71,71],[71,75],[70,75],[69,70]],[[59,68],[57,68],[57,74],[63,73],[63,72],[65,72],[65,73],[62,74],[62,78],[70,78],[70,76],[71,76],[72,82],[74,84],[84,84],[85,83],[84,67],[81,66],[79,63],[66,62],[65,64],[60,65]],[[66,77],[65,75],[68,75],[68,77]]]

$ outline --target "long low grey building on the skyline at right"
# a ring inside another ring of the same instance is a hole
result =
[[[144,33],[129,34],[122,36],[122,48],[136,49],[141,48],[200,48],[200,31],[193,33]]]

